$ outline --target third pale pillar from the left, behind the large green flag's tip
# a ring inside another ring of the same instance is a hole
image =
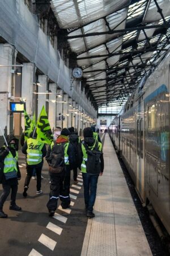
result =
[[[47,84],[47,76],[39,75],[39,82],[41,86],[38,86],[39,93],[38,94],[38,118],[41,113],[42,106],[46,105],[46,84]]]

